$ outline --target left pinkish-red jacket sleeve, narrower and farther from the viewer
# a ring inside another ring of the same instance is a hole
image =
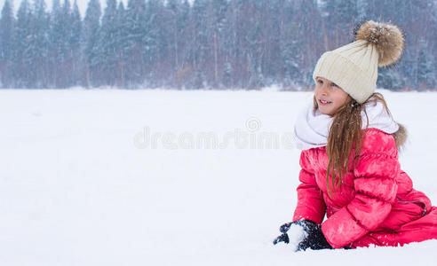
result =
[[[307,158],[308,151],[300,153],[300,172],[298,185],[298,205],[294,211],[293,221],[301,219],[311,220],[314,223],[320,224],[325,215],[325,202],[323,200],[322,191],[315,182],[314,169],[311,167]]]

